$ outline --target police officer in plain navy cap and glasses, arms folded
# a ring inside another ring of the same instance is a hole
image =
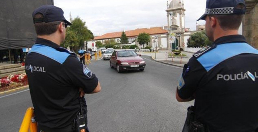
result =
[[[71,25],[63,14],[53,5],[43,5],[32,13],[37,39],[26,57],[25,69],[40,132],[75,131],[78,111],[83,108],[87,116],[84,94],[101,90],[95,74],[76,54],[60,47],[66,27]],[[89,132],[87,120],[85,131]]]

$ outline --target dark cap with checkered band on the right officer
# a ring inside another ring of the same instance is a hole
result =
[[[207,15],[245,14],[245,9],[236,9],[236,5],[244,4],[245,0],[207,0],[205,13],[197,20],[205,20]]]

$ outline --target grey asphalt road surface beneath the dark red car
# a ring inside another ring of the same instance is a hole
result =
[[[89,69],[101,83],[101,92],[86,95],[91,132],[180,132],[187,107],[177,102],[175,88],[182,68],[146,61],[143,72],[116,72],[109,61],[92,61]],[[26,109],[32,106],[30,92],[0,95],[0,131],[18,131]]]

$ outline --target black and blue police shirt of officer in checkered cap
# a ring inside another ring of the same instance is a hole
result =
[[[185,64],[177,93],[196,96],[196,118],[212,131],[255,131],[258,51],[242,35],[218,38]]]

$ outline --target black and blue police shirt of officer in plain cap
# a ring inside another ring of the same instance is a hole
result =
[[[91,93],[98,84],[97,77],[75,53],[42,38],[37,38],[28,53],[25,69],[37,122],[42,128],[71,127],[80,109],[79,88]],[[86,106],[85,98],[83,103]]]

